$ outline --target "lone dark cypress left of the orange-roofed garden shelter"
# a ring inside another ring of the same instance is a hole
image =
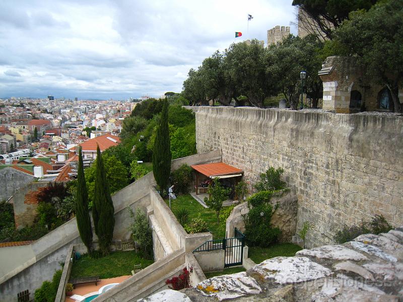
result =
[[[153,174],[161,194],[167,189],[171,174],[171,143],[168,128],[168,101],[163,101],[161,120],[157,128],[157,135],[153,148]]]

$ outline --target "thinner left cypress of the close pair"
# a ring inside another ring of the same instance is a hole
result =
[[[83,158],[81,156],[81,147],[79,150],[79,167],[77,172],[77,192],[76,192],[77,206],[76,217],[77,227],[80,232],[80,237],[88,253],[92,250],[92,226],[90,219],[90,211],[88,209],[88,191],[84,177]]]

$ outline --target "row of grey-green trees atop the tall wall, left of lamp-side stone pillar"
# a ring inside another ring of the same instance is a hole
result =
[[[289,36],[270,48],[257,40],[231,44],[224,52],[206,58],[197,70],[190,69],[183,94],[193,105],[213,100],[227,106],[263,107],[266,99],[282,92],[296,109],[301,93],[299,73],[307,70],[306,92],[316,107],[322,88],[317,51],[322,46],[312,36]]]

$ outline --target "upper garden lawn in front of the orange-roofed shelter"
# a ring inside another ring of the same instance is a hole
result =
[[[168,199],[165,202],[169,205]],[[225,221],[220,221],[217,225],[217,215],[215,210],[205,208],[198,203],[190,194],[180,195],[175,200],[171,200],[171,210],[175,214],[179,208],[185,208],[189,211],[189,219],[187,223],[190,223],[192,218],[200,218],[205,220],[208,224],[209,231],[213,234],[214,239],[225,238]]]

